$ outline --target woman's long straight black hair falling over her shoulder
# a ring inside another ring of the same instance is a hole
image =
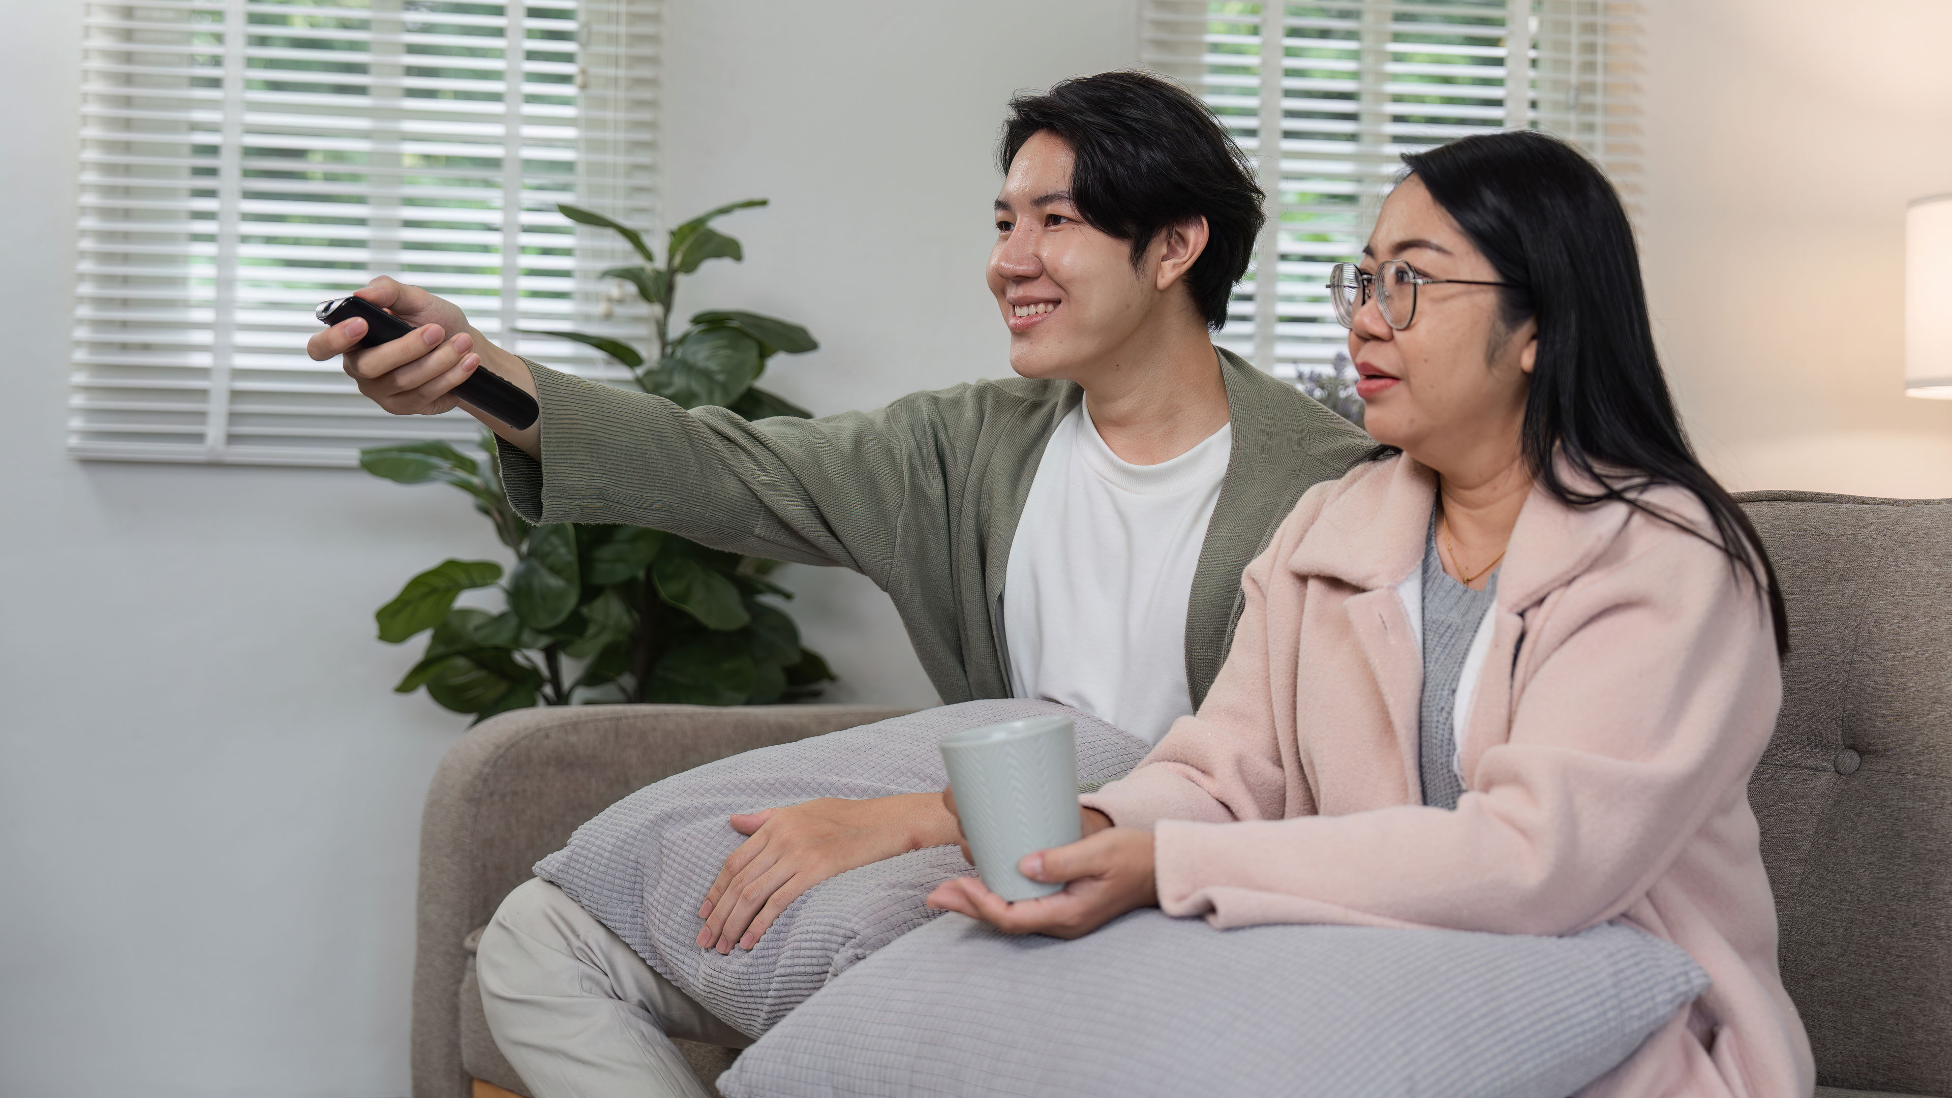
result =
[[[1681,430],[1653,352],[1634,231],[1606,176],[1564,141],[1525,129],[1466,137],[1403,162],[1511,283],[1499,291],[1505,326],[1538,320],[1523,428],[1532,477],[1567,506],[1620,500],[1708,539],[1640,502],[1649,485],[1694,492],[1714,520],[1710,541],[1767,598],[1776,653],[1788,653],[1788,615],[1763,539]],[[1554,457],[1601,488],[1567,485]]]

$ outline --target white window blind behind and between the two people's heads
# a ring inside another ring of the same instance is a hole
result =
[[[1206,100],[1269,193],[1216,342],[1304,387],[1351,373],[1323,283],[1359,258],[1400,154],[1534,127],[1636,193],[1634,4],[1150,0],[1144,20],[1146,63]]]

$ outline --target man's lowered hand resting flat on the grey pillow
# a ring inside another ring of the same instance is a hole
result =
[[[935,793],[822,797],[732,817],[732,830],[752,838],[726,858],[699,905],[699,946],[720,953],[757,946],[787,905],[828,877],[956,840],[956,821]]]

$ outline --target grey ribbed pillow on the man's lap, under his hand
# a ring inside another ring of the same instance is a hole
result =
[[[892,721],[752,750],[630,793],[576,828],[535,873],[617,932],[664,979],[757,1037],[824,983],[941,912],[921,901],[972,873],[955,846],[914,850],[822,881],[752,950],[720,957],[697,946],[699,901],[746,836],[726,817],[814,797],[886,797],[947,783],[935,742],[951,733],[1038,713],[1078,721],[1078,780],[1128,772],[1148,744],[1050,701],[966,701]]]

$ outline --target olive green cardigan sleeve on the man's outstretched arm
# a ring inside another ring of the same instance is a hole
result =
[[[509,502],[529,522],[619,522],[714,549],[839,565],[886,588],[906,506],[941,502],[958,436],[980,418],[956,387],[874,412],[748,422],[679,408],[529,363],[541,461],[500,447]]]

